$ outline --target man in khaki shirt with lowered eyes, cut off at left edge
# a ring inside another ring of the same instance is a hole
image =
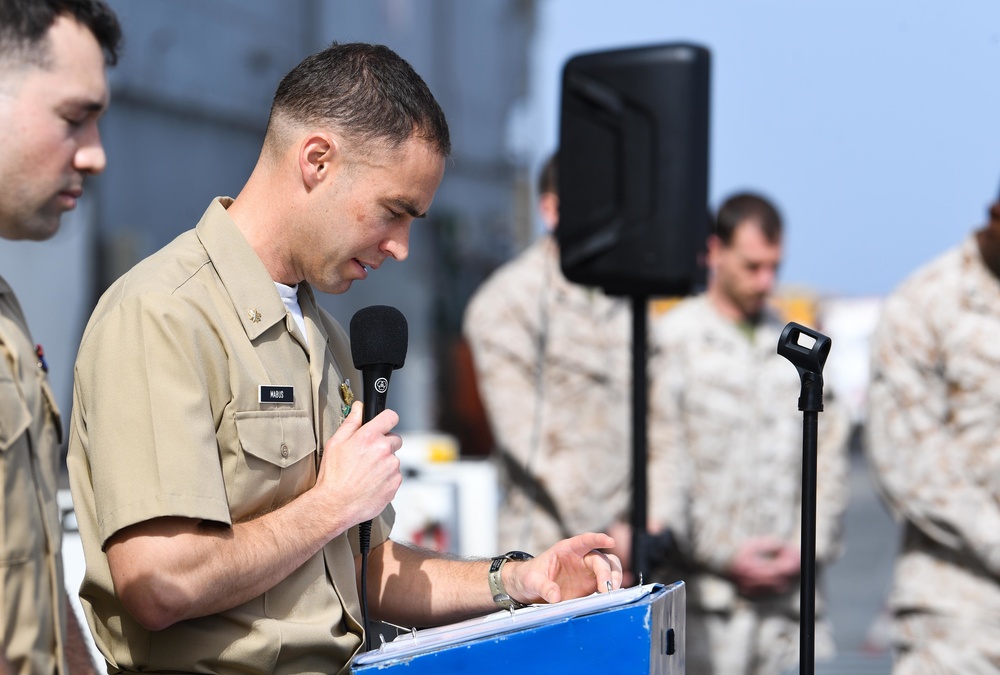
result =
[[[97,120],[121,31],[99,0],[0,0],[0,237],[44,240],[104,169]],[[62,423],[41,348],[0,279],[0,673],[89,673],[56,504]]]

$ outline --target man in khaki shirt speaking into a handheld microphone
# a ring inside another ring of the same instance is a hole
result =
[[[110,672],[346,672],[364,640],[366,520],[372,618],[426,626],[620,585],[594,550],[607,535],[495,575],[388,538],[398,417],[361,424],[347,337],[312,288],[342,293],[405,259],[449,152],[409,64],[333,45],[279,84],[239,195],[102,297],[69,467],[81,598]]]

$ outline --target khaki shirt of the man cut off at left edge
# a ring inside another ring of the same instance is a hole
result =
[[[0,636],[16,673],[65,673],[56,490],[62,422],[13,291],[0,279]]]

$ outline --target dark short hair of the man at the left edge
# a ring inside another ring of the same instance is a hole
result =
[[[109,66],[118,63],[122,29],[104,0],[0,0],[0,61],[46,67],[51,58],[49,28],[68,16],[93,33]]]

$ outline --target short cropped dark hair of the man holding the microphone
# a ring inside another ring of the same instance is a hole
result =
[[[349,142],[397,148],[414,134],[451,154],[444,112],[409,63],[383,45],[334,42],[278,84],[268,136],[283,124],[332,125]]]

